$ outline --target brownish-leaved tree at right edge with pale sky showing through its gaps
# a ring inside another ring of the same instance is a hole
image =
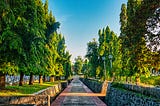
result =
[[[143,35],[142,37],[143,39],[145,39],[145,45],[147,45],[147,48],[145,48],[144,51],[146,56],[143,63],[145,63],[145,67],[152,67],[158,71],[158,69],[160,68],[160,34],[158,30],[160,4],[157,2],[159,1],[155,0],[150,2],[149,0],[146,0],[142,2],[139,11],[137,11],[137,18],[139,19],[139,32],[141,33],[141,35]]]

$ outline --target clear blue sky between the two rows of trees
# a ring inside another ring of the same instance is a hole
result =
[[[98,30],[109,26],[119,35],[121,4],[127,0],[49,0],[49,10],[61,23],[59,32],[65,36],[72,61],[84,57],[87,43],[98,40]]]

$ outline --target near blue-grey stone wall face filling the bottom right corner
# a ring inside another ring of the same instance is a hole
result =
[[[110,87],[105,97],[108,106],[160,106],[160,99]]]

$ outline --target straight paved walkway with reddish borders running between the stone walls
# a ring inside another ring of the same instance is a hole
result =
[[[92,93],[78,78],[74,78],[51,106],[106,106],[98,97],[90,95]]]

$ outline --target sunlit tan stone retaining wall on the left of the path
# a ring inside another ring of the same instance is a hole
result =
[[[33,106],[50,106],[50,97],[56,96],[59,92],[61,92],[60,83],[32,95],[0,96],[0,105],[32,104]]]

